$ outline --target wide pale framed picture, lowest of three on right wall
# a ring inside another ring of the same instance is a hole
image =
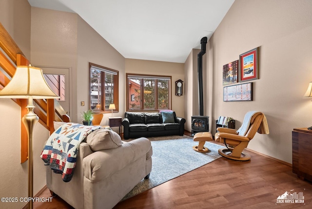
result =
[[[253,83],[223,87],[223,102],[253,101]]]

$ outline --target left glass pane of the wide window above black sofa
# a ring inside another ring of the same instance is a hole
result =
[[[129,95],[131,96],[129,99],[129,109],[140,109],[140,79],[128,79],[129,83]]]

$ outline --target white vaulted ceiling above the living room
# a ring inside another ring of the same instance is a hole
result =
[[[184,63],[208,40],[234,0],[28,0],[77,13],[122,56]]]

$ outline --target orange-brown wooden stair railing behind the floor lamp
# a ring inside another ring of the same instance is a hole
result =
[[[24,56],[18,45],[14,42],[10,34],[5,30],[0,23],[0,89],[3,89],[13,77],[16,66],[30,65],[30,62]],[[10,78],[8,78],[8,76]],[[12,99],[21,107],[20,118],[27,114],[27,100],[26,99]],[[46,127],[50,134],[54,131],[53,121],[70,122],[69,116],[61,107],[59,102],[55,99],[35,100],[39,108],[35,108],[34,112],[39,117],[39,123]],[[28,137],[27,131],[21,122],[21,142],[20,142],[20,163],[24,163],[28,159]]]

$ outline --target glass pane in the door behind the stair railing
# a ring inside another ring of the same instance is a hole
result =
[[[43,76],[54,93],[60,96],[58,100],[65,101],[65,75],[44,74]]]

